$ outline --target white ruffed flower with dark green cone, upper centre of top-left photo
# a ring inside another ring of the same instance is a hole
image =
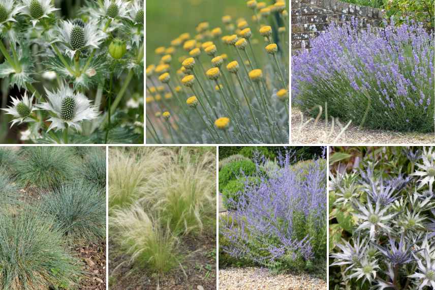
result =
[[[73,59],[76,51],[90,47],[98,48],[104,34],[94,21],[84,23],[80,20],[61,21],[57,28],[58,40],[66,46],[66,53]]]

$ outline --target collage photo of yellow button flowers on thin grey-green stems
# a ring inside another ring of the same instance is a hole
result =
[[[288,144],[288,7],[148,1],[146,143]]]

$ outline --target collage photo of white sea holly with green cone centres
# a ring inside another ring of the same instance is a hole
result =
[[[0,143],[144,143],[143,0],[0,2]]]

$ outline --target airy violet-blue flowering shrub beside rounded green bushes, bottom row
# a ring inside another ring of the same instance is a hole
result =
[[[278,158],[272,177],[246,183],[221,218],[221,249],[268,268],[306,268],[326,255],[326,162],[295,170],[291,154]],[[261,170],[257,163],[257,170]]]

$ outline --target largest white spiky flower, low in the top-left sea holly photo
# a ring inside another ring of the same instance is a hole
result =
[[[47,93],[47,103],[39,105],[41,109],[53,112],[56,117],[51,117],[50,127],[48,131],[54,129],[64,129],[65,123],[70,127],[81,130],[79,122],[84,120],[92,120],[97,118],[99,112],[95,106],[90,104],[90,100],[81,93],[74,93],[69,86],[63,84],[57,92],[50,92],[45,89]]]

